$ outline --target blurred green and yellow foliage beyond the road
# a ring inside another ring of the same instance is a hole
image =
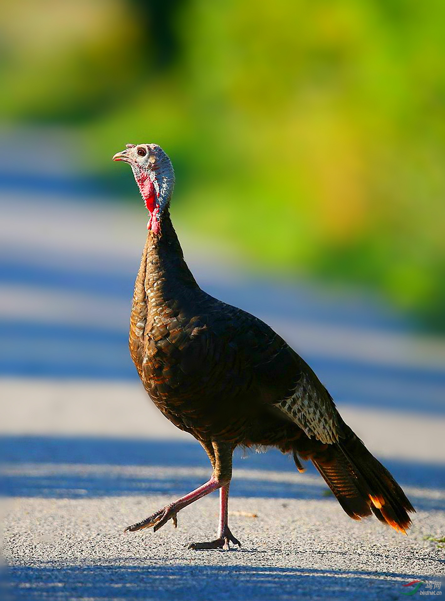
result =
[[[81,135],[84,168],[156,141],[173,211],[259,269],[372,285],[445,328],[445,4],[17,0],[0,109]],[[1,31],[2,29],[2,31]]]

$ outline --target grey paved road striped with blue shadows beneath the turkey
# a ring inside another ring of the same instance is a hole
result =
[[[300,475],[272,451],[235,461],[230,523],[241,549],[185,548],[213,534],[215,495],[184,510],[177,530],[124,535],[128,523],[209,475],[199,445],[147,403],[127,355],[145,215],[60,191],[29,198],[8,189],[0,204],[11,597],[403,599],[413,579],[440,582],[445,549],[426,539],[445,535],[444,341],[417,337],[393,311],[351,291],[233,276],[233,258],[224,266],[181,232],[203,287],[296,346],[418,511],[407,537],[375,519],[353,522],[315,471]]]

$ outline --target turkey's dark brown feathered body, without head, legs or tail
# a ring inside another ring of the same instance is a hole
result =
[[[148,234],[135,285],[130,353],[156,406],[200,441],[288,445],[302,430],[274,405],[292,397],[307,364],[257,317],[218,301],[186,266],[173,225]]]

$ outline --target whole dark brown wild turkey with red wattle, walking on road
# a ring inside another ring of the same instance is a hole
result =
[[[219,489],[216,539],[189,548],[240,545],[227,524],[232,454],[240,445],[291,453],[300,472],[301,460],[311,460],[349,516],[373,513],[405,533],[414,508],[345,424],[311,368],[260,319],[198,286],[171,224],[174,171],[164,150],[127,144],[113,159],[129,163],[150,213],[130,353],[158,409],[200,442],[213,468],[208,482],[126,531],[156,531],[170,519],[176,527],[178,511]]]

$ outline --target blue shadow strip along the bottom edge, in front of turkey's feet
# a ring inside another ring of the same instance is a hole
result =
[[[199,558],[195,556],[195,560]],[[34,567],[10,567],[6,575],[10,599],[26,601],[396,600],[405,598],[402,585],[414,578],[439,580],[434,576],[413,574],[242,565],[202,566],[195,563],[177,566],[48,566],[42,563]]]

